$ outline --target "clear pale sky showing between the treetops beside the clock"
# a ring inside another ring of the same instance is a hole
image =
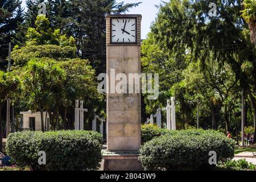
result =
[[[155,20],[158,9],[155,5],[160,4],[160,0],[117,0],[117,2],[135,3],[142,2],[141,5],[131,9],[127,14],[141,14],[142,15],[142,39],[146,38],[147,33],[150,31],[150,25]],[[22,0],[23,7],[26,0]]]

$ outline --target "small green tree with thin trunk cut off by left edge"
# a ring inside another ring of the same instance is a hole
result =
[[[19,79],[13,73],[5,73],[0,71],[0,152],[3,151],[3,121],[2,121],[2,107],[7,98],[10,98],[18,89]]]

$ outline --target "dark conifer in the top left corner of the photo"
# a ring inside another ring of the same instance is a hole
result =
[[[20,0],[0,1],[0,69],[6,66],[4,61],[8,56],[8,43],[15,36],[18,24],[23,22],[21,3]]]

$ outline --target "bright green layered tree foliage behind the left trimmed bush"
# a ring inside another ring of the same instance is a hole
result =
[[[97,114],[104,109],[104,98],[97,92],[95,70],[88,60],[76,55],[75,39],[60,34],[60,30],[53,31],[45,16],[38,16],[35,26],[27,32],[29,43],[15,47],[11,55],[15,72],[24,81],[21,108],[47,110],[52,129],[73,129],[76,99],[85,101],[84,107],[92,108],[85,121],[93,118],[93,109],[98,109]],[[52,71],[57,72],[52,74]]]

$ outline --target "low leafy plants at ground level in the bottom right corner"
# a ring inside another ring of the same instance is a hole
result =
[[[239,159],[239,160],[230,160],[225,162],[224,164],[218,164],[221,168],[225,169],[231,169],[231,170],[256,170],[256,166],[253,163],[248,163],[245,159]]]

